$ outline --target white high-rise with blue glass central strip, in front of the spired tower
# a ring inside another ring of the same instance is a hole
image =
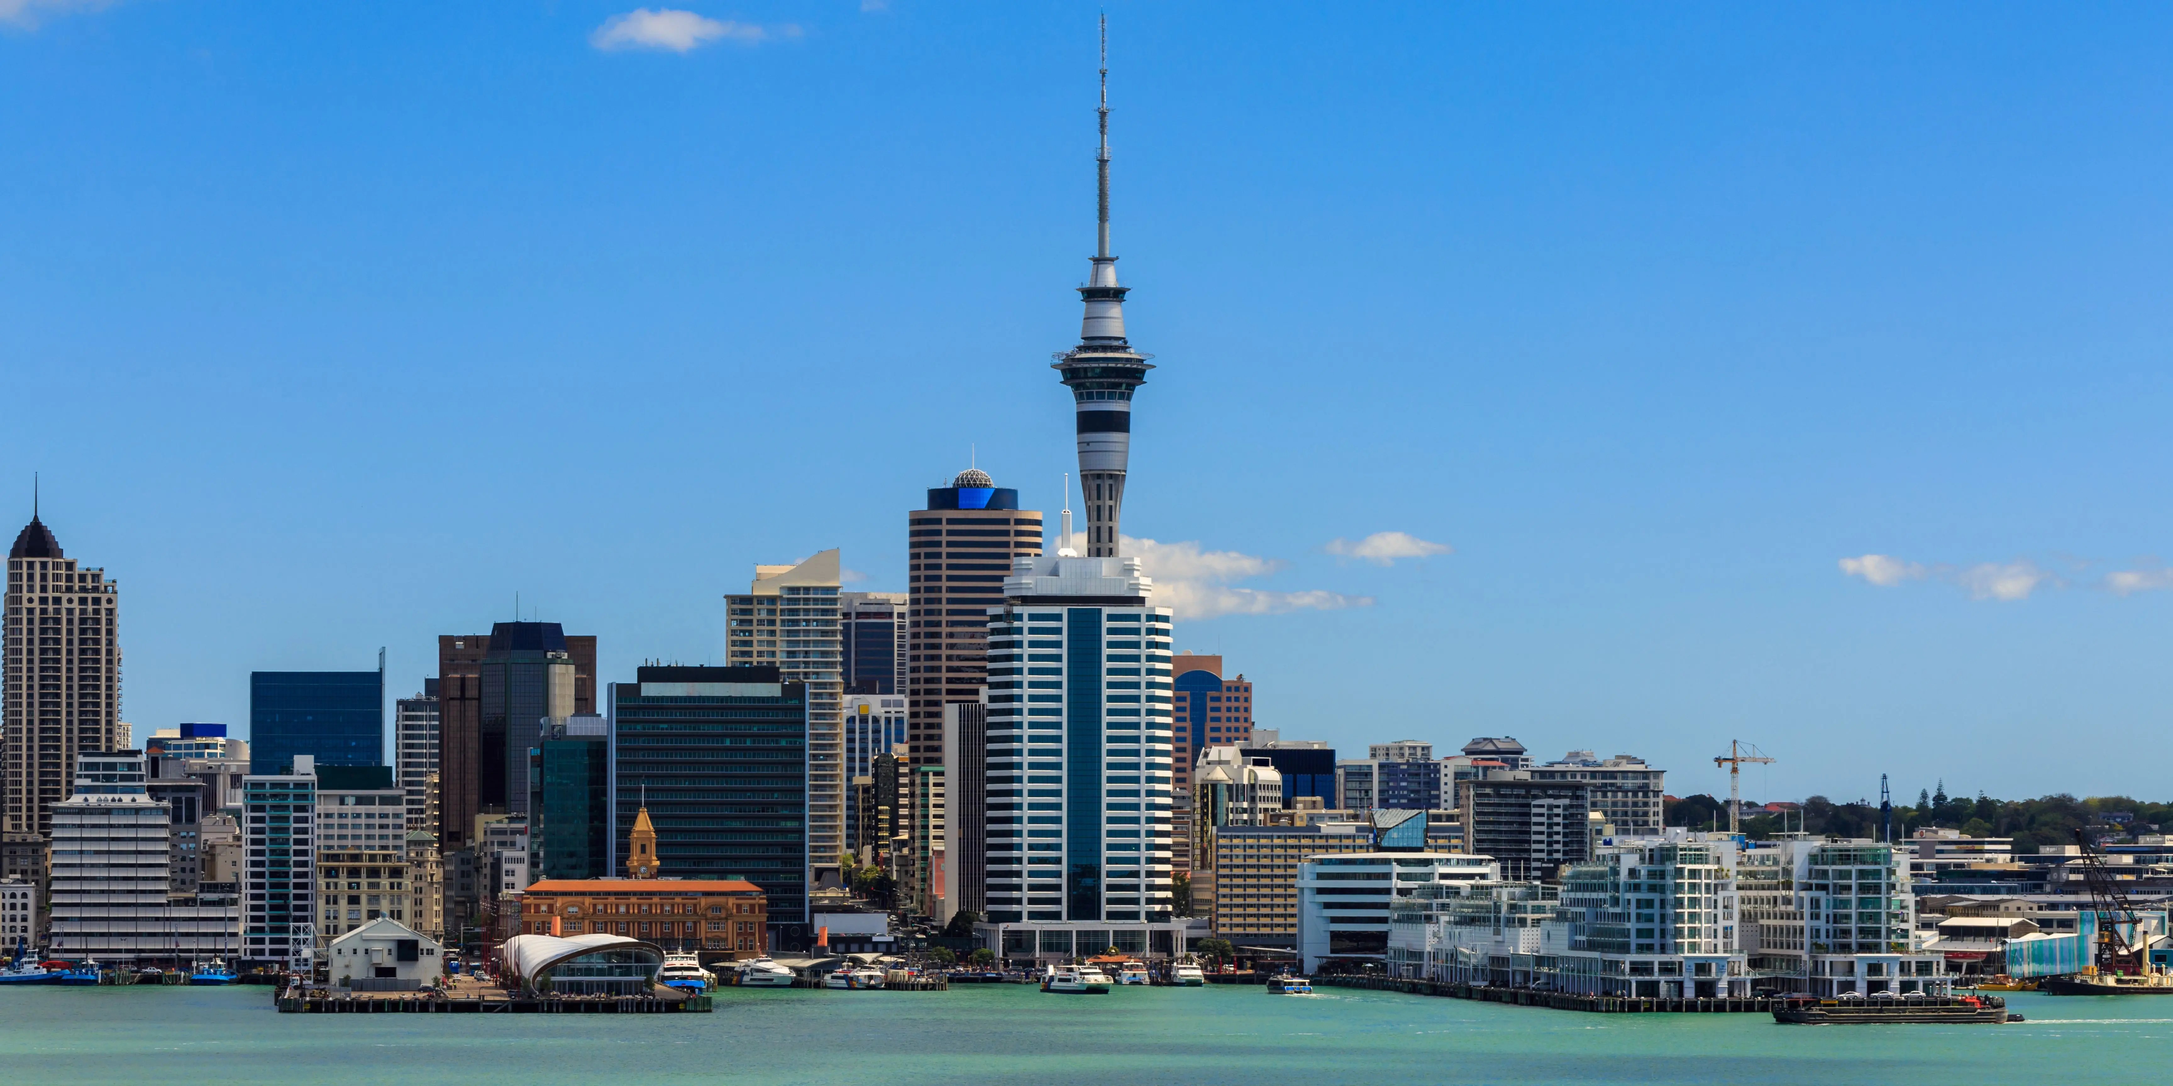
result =
[[[1017,558],[1010,602],[989,610],[987,899],[1004,956],[1041,954],[1013,927],[1128,925],[1145,945],[1150,927],[1182,927],[1171,613],[1147,606],[1152,584],[1139,558]]]

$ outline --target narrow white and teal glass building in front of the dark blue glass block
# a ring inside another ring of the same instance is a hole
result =
[[[315,951],[315,819],[317,765],[296,754],[287,773],[241,778],[243,845],[248,869],[241,880],[248,908],[241,919],[243,962],[274,969],[306,967]]]

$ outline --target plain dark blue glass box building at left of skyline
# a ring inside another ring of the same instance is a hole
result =
[[[250,671],[250,773],[317,765],[385,765],[385,669]]]

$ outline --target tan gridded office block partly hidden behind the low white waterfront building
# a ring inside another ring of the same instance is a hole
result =
[[[1299,864],[1373,849],[1373,834],[1356,821],[1217,825],[1204,841],[1193,869],[1193,912],[1219,938],[1278,949],[1297,947]]]

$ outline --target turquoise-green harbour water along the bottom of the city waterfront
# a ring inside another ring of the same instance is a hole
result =
[[[22,1084],[2158,1084],[2173,999],[2017,993],[2019,1025],[1775,1025],[1321,988],[717,993],[715,1014],[278,1014],[267,988],[0,990]]]

